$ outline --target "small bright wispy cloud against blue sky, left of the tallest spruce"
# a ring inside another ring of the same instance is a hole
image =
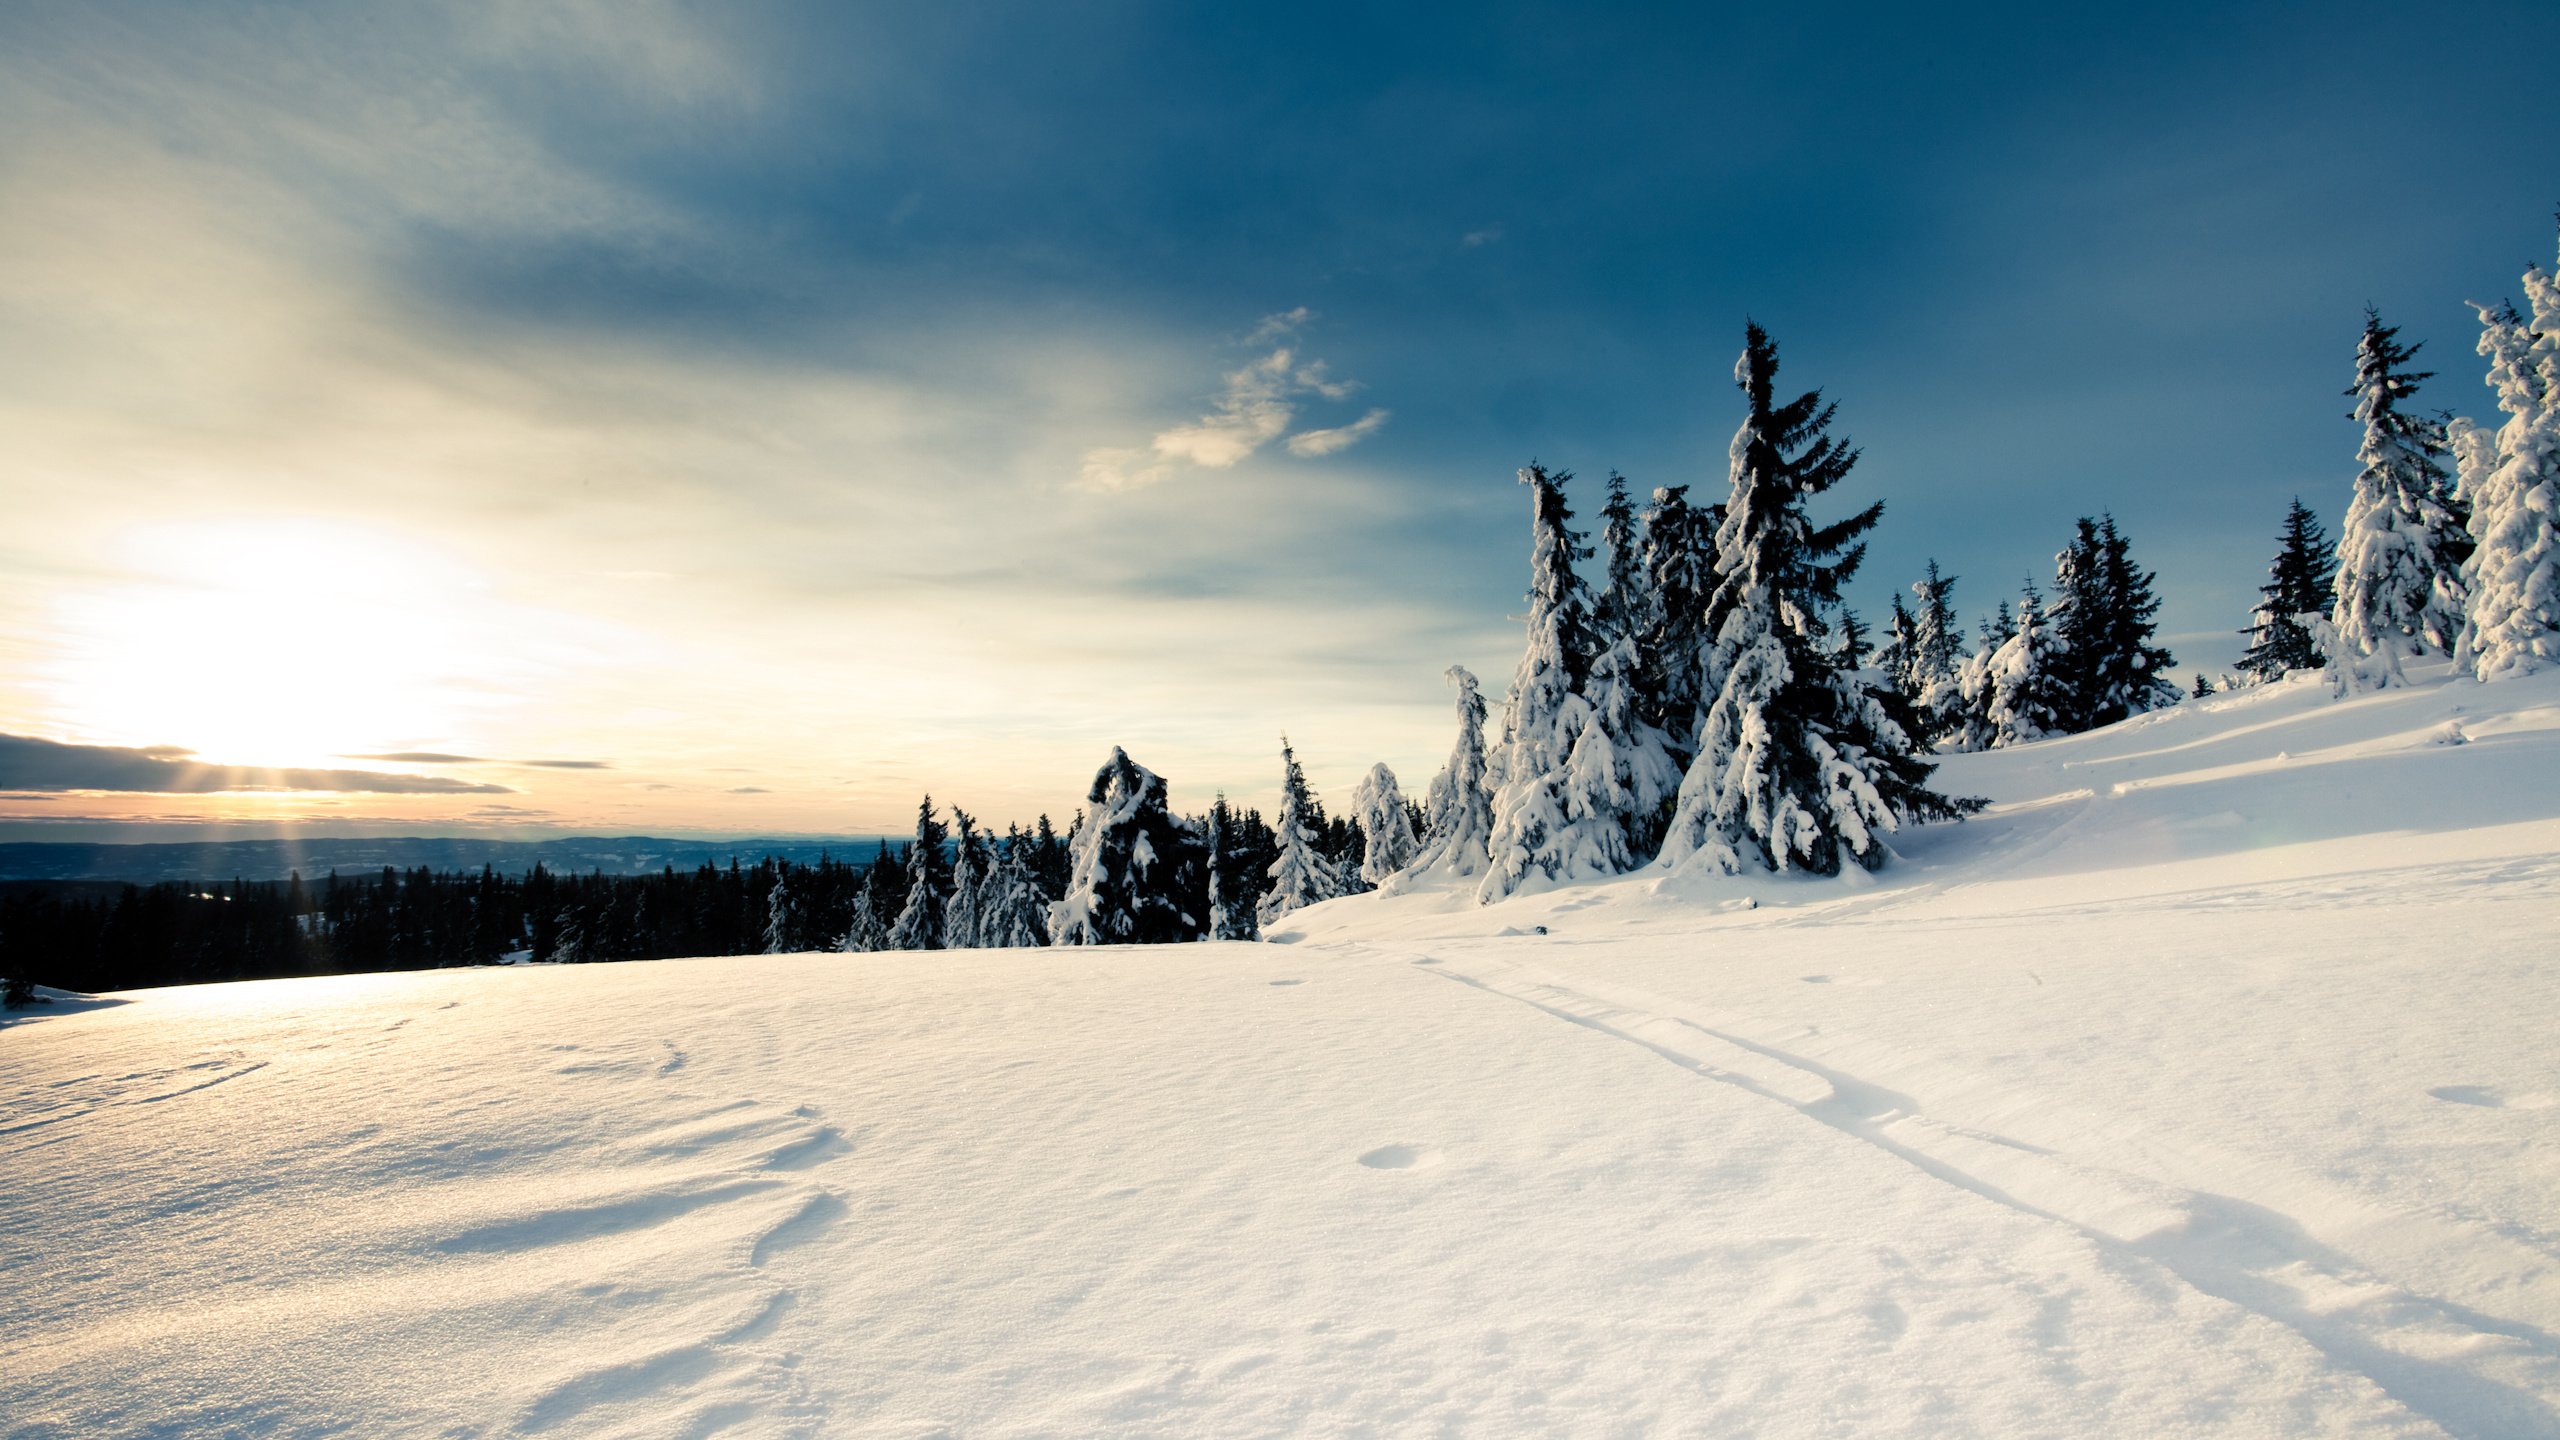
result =
[[[1244,343],[1270,343],[1295,336],[1316,318],[1298,305],[1277,315],[1265,315]],[[1208,415],[1188,425],[1160,430],[1144,446],[1106,446],[1085,451],[1085,489],[1142,489],[1172,479],[1178,469],[1234,469],[1254,451],[1288,436],[1306,397],[1349,400],[1359,392],[1357,379],[1334,379],[1321,359],[1300,361],[1298,348],[1280,346],[1267,356],[1226,377]],[[1388,423],[1385,410],[1370,410],[1352,425],[1303,430],[1288,438],[1293,456],[1313,459],[1357,446]]]

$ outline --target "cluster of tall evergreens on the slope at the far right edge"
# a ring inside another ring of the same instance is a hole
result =
[[[2478,679],[2560,664],[2560,279],[2527,266],[2524,297],[2473,305],[2496,428],[2417,413],[2435,372],[2409,369],[2419,346],[2365,310],[2345,523],[2332,548],[2294,500],[2250,615],[2250,679],[2324,666],[2342,687],[2391,687],[2412,659]]]

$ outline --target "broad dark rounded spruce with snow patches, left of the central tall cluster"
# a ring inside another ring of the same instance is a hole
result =
[[[1111,748],[1068,835],[1068,892],[1050,907],[1052,945],[1170,945],[1206,925],[1208,846],[1165,807],[1165,781]]]

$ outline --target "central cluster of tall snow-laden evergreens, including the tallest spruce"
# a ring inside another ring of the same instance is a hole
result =
[[[1725,500],[1700,507],[1661,487],[1638,510],[1610,474],[1597,556],[1572,525],[1572,477],[1521,471],[1528,643],[1500,730],[1485,738],[1475,676],[1452,669],[1457,748],[1413,861],[1370,866],[1377,884],[1444,874],[1495,902],[1654,861],[1838,874],[1884,863],[1902,822],[1974,807],[1925,787],[1925,738],[1859,664],[1841,589],[1882,502],[1810,515],[1859,451],[1830,436],[1836,405],[1782,402],[1774,379],[1777,343],[1748,325]]]

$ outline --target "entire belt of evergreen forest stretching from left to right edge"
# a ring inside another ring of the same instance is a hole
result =
[[[914,838],[863,863],[20,894],[0,902],[0,969],[26,997],[38,981],[1254,940],[1308,904],[1423,881],[1490,904],[1644,866],[1874,871],[1897,830],[1979,810],[1930,787],[1933,753],[2294,671],[2353,694],[2427,659],[2483,682],[2560,666],[2560,279],[2532,264],[2522,295],[2473,305],[2491,418],[2424,407],[2437,372],[2365,313],[2345,389],[2358,469],[2327,497],[2340,533],[2294,500],[2235,674],[2176,682],[2153,574],[2107,512],[1971,628],[1935,564],[1882,623],[1856,615],[1843,594],[1887,502],[1856,492],[1838,400],[1789,392],[1777,341],[1748,325],[1715,495],[1667,484],[1638,505],[1615,471],[1595,495],[1562,469],[1518,471],[1526,646],[1498,717],[1482,682],[1449,669],[1454,738],[1421,797],[1377,764],[1329,812],[1280,738],[1272,815],[1226,797],[1175,815],[1165,779],[1114,751],[1062,833],[1042,815],[998,835],[927,797]],[[1597,500],[1595,530],[1577,495]]]

